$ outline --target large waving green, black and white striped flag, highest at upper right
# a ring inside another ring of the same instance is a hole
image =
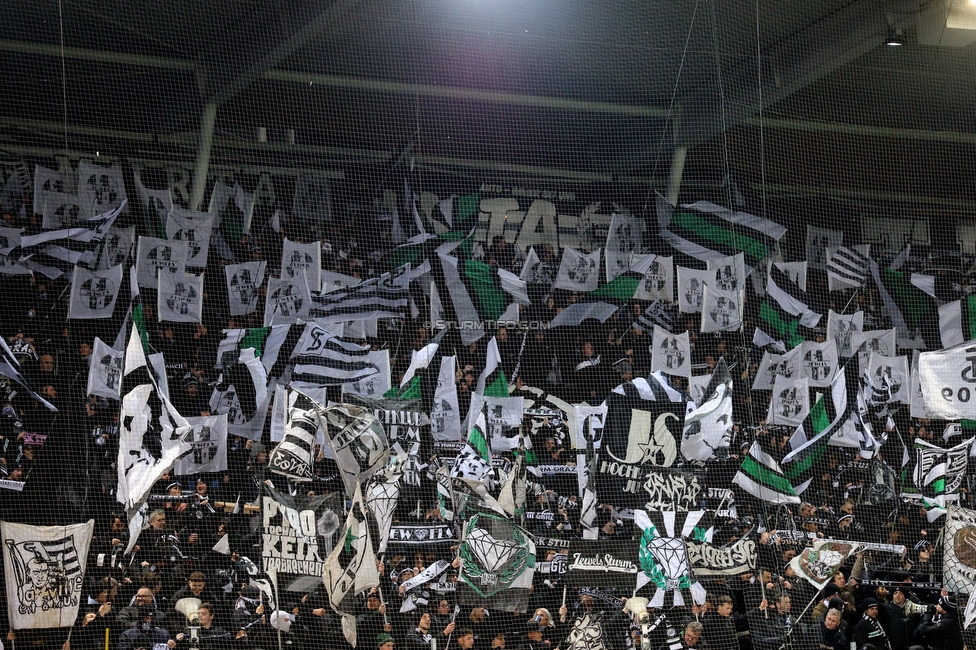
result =
[[[786,228],[774,221],[708,201],[675,208],[657,194],[656,203],[661,237],[675,250],[702,261],[742,253],[747,275],[775,255],[786,234]]]

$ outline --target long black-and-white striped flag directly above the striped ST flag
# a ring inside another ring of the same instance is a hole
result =
[[[313,295],[308,317],[319,324],[409,315],[410,265],[350,287]]]

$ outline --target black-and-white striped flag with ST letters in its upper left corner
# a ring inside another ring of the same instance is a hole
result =
[[[361,381],[379,372],[369,362],[369,346],[343,341],[315,323],[306,323],[289,363],[295,366],[292,381],[320,385]]]

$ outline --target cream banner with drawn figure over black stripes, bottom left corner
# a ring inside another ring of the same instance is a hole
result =
[[[94,519],[62,526],[0,523],[11,630],[75,624],[94,529]]]

